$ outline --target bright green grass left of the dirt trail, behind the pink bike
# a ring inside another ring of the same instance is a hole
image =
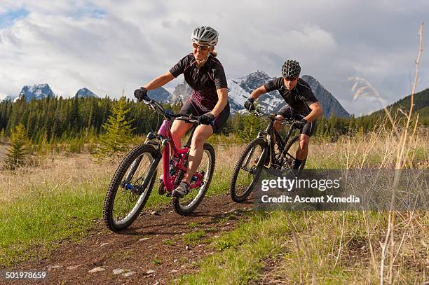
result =
[[[227,181],[217,182],[222,171],[214,174],[206,197],[223,193]],[[55,181],[27,189],[11,203],[0,203],[0,267],[46,256],[55,244],[85,237],[94,220],[102,218],[102,205],[109,180],[91,183],[67,183],[58,188]],[[158,195],[158,182],[144,209],[170,204],[171,198]],[[190,237],[190,242],[191,242]],[[174,241],[167,242],[171,243]]]

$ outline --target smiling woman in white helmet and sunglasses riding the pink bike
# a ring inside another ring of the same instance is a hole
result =
[[[218,32],[211,27],[197,27],[191,36],[193,53],[183,57],[170,71],[134,92],[137,99],[145,99],[148,90],[160,88],[180,74],[184,75],[186,83],[193,89],[179,113],[198,116],[200,125],[193,133],[188,172],[179,186],[172,191],[175,197],[184,197],[189,193],[191,178],[203,157],[205,141],[214,132],[220,132],[229,118],[228,85],[224,67],[214,52],[218,37]],[[183,120],[175,120],[172,123],[172,137],[177,146],[181,145],[180,139],[191,127],[192,124]]]

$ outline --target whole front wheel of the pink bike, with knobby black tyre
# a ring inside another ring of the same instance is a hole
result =
[[[103,218],[114,231],[128,228],[142,211],[156,180],[154,146],[136,146],[123,158],[104,198]]]

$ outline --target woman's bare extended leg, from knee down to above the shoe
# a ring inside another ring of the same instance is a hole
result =
[[[191,178],[198,166],[200,166],[201,158],[203,158],[204,143],[212,134],[213,128],[210,125],[199,125],[196,128],[191,141],[191,150],[189,151],[188,172],[182,181],[191,183]]]

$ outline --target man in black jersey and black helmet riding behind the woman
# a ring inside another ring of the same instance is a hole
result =
[[[254,101],[262,94],[278,90],[285,99],[287,105],[283,106],[278,112],[277,118],[290,118],[299,120],[295,127],[301,130],[299,135],[299,147],[295,155],[294,169],[301,166],[308,153],[308,142],[315,129],[315,120],[322,116],[322,107],[318,99],[311,91],[310,85],[299,78],[301,67],[295,60],[287,60],[282,67],[282,77],[274,78],[268,83],[253,90],[250,97],[245,102],[245,108],[249,111],[254,110]],[[276,120],[274,128],[280,131],[281,122]]]

